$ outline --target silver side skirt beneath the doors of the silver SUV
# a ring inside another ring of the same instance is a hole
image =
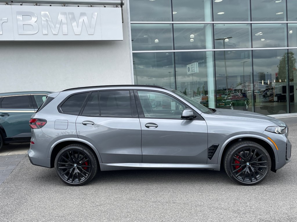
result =
[[[100,163],[100,169],[105,170],[143,170],[143,169],[202,169],[220,170],[217,164],[189,163]]]

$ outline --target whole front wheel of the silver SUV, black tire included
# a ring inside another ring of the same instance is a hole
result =
[[[252,141],[233,144],[224,159],[228,176],[241,185],[255,185],[262,182],[271,168],[268,152]]]

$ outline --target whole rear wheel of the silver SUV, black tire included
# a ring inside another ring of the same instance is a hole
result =
[[[94,153],[81,144],[71,144],[57,154],[55,169],[58,177],[69,186],[82,186],[91,181],[98,170]]]

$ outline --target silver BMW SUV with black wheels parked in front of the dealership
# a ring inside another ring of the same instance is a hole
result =
[[[54,167],[71,186],[88,183],[98,170],[160,168],[224,168],[233,181],[254,185],[291,156],[282,121],[254,112],[208,109],[158,86],[52,93],[30,126],[31,163]]]

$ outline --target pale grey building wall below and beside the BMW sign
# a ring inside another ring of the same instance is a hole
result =
[[[0,93],[132,84],[127,4],[123,41],[0,41]]]

